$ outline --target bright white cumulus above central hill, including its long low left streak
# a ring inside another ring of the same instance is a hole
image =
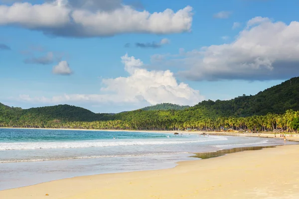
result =
[[[182,105],[194,105],[203,100],[199,91],[190,88],[185,83],[178,83],[172,72],[149,71],[143,68],[144,63],[128,54],[122,57],[128,77],[104,79],[100,94],[63,95],[52,98],[30,97],[21,95],[20,100],[61,103],[61,102],[89,102],[93,104],[130,103],[130,104],[156,104],[170,102]]]

